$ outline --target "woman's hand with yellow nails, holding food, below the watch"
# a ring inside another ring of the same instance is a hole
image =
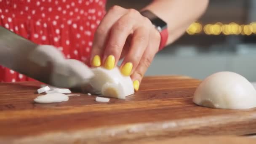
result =
[[[139,89],[160,44],[160,33],[148,18],[139,11],[113,6],[96,30],[91,51],[92,67],[101,64],[113,69],[123,59],[120,70],[133,80],[135,91]]]

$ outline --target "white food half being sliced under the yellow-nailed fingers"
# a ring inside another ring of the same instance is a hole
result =
[[[94,77],[90,84],[96,94],[102,94],[107,97],[125,99],[134,93],[131,77],[121,74],[120,69],[105,69],[103,67],[93,68]]]

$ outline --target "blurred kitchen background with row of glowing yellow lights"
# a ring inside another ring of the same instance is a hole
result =
[[[109,0],[140,9],[151,0]],[[135,5],[135,6],[134,6]],[[157,53],[146,75],[203,79],[232,71],[256,81],[256,0],[210,0],[208,10],[175,43]]]

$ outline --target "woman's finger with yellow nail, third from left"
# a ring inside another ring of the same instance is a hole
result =
[[[147,25],[145,25],[145,27],[139,27],[134,31],[131,47],[129,48],[128,53],[126,53],[125,59],[121,64],[121,73],[123,75],[130,76],[138,66],[139,61],[141,60],[141,57],[149,43],[149,33]]]

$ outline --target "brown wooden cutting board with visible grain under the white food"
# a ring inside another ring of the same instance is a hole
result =
[[[192,96],[200,80],[184,76],[145,77],[140,91],[125,100],[36,104],[40,83],[0,84],[0,143],[109,144],[192,135],[256,133],[256,109],[199,107]]]

